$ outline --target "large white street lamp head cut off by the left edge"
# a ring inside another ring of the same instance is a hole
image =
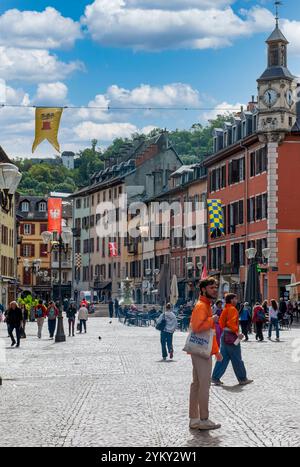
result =
[[[14,193],[21,181],[22,174],[13,164],[0,164],[0,205],[6,214],[11,211]]]

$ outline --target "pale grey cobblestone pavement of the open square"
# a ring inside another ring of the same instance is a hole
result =
[[[174,362],[161,361],[154,328],[106,318],[89,319],[88,334],[63,344],[47,339],[46,324],[39,341],[29,323],[20,349],[6,335],[1,324],[1,446],[300,445],[300,362],[292,358],[299,329],[284,331],[280,343],[251,336],[243,344],[255,382],[236,386],[230,368],[226,386],[212,388],[211,418],[222,423],[213,433],[188,428],[186,334],[175,335]]]

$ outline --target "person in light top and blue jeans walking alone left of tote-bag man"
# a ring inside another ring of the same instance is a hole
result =
[[[172,305],[170,303],[166,306],[165,313],[162,313],[156,322],[156,326],[164,323],[164,327],[160,331],[160,343],[163,360],[167,360],[169,353],[170,359],[174,357],[173,347],[173,335],[177,329],[177,318],[172,311]]]

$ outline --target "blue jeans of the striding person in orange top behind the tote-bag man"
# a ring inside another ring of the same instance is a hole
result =
[[[220,352],[223,356],[222,362],[217,362],[213,372],[212,379],[220,380],[224,375],[229,362],[231,362],[235,376],[238,381],[245,381],[247,379],[247,372],[242,360],[241,344],[239,345],[227,345],[224,343],[224,335],[221,338],[221,349]]]

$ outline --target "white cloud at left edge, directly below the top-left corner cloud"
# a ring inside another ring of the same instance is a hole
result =
[[[47,50],[0,46],[0,76],[6,80],[61,80],[70,73],[83,69],[81,62],[61,62]]]

